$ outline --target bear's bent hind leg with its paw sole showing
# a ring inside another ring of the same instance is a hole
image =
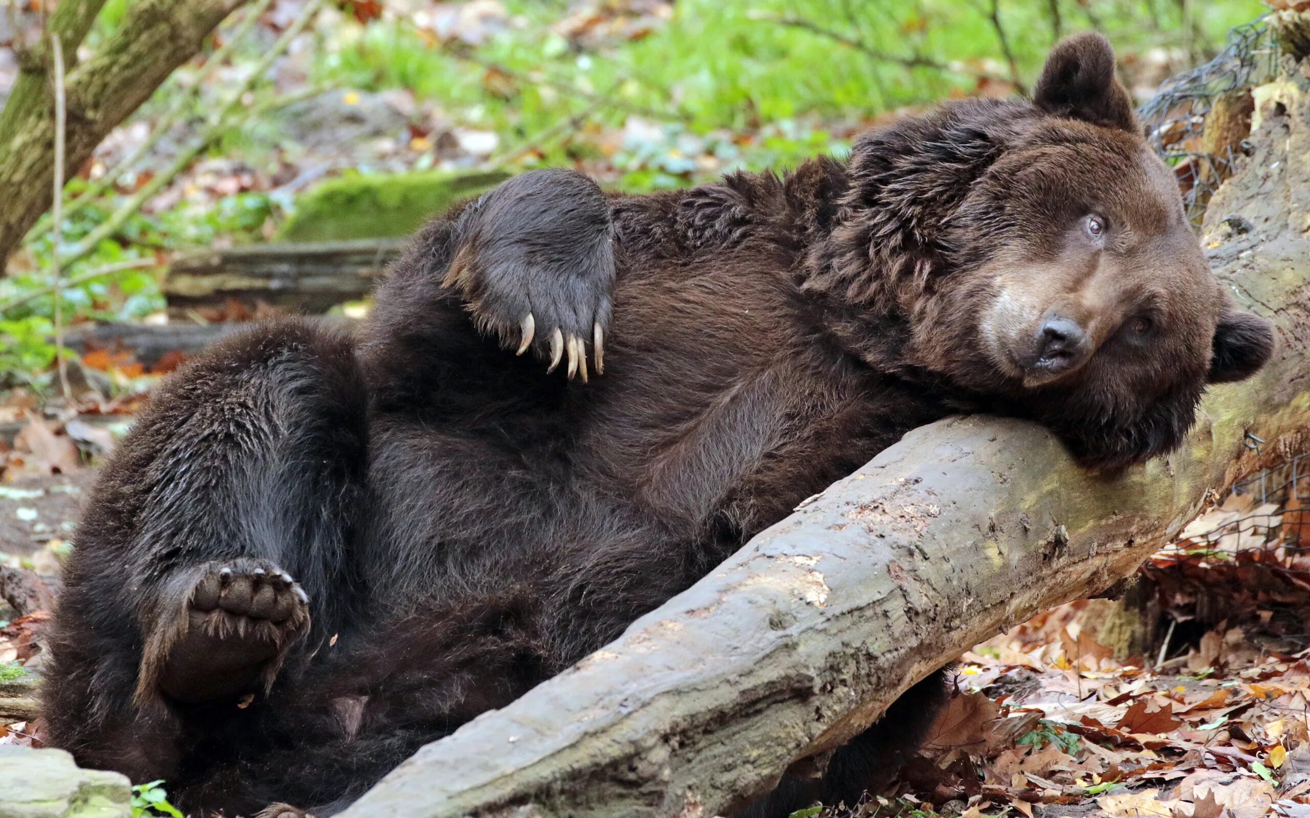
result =
[[[178,784],[206,707],[267,690],[354,622],[367,445],[354,348],[313,323],[244,332],[170,377],[77,529],[43,686],[50,742]]]

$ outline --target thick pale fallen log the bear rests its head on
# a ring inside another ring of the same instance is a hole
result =
[[[419,750],[345,815],[726,811],[976,643],[1129,575],[1239,475],[1302,450],[1310,106],[1279,93],[1285,111],[1263,111],[1203,241],[1239,301],[1277,322],[1280,347],[1256,378],[1209,391],[1180,452],[1107,480],[1027,423],[917,429],[613,644]]]

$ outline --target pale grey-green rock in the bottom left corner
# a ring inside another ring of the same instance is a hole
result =
[[[127,776],[81,770],[63,750],[0,746],[0,818],[130,818]]]

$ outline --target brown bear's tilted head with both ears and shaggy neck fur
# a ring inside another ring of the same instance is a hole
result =
[[[871,297],[899,302],[903,360],[1039,420],[1089,466],[1178,446],[1205,385],[1272,352],[1272,325],[1210,274],[1098,34],[1055,48],[1031,103],[874,132],[852,182],[844,204],[879,216],[845,238],[891,271]]]

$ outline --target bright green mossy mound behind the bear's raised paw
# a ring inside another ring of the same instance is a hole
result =
[[[495,187],[503,171],[351,175],[324,182],[296,200],[278,241],[385,238],[413,233],[430,216]]]

